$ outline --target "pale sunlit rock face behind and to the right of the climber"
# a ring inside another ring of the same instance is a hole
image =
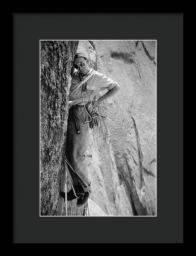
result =
[[[155,41],[78,44],[89,53],[91,68],[121,86],[102,104],[111,145],[98,154],[90,141],[86,154],[90,199],[107,215],[156,215],[155,46]]]

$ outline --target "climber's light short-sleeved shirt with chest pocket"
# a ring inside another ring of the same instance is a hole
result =
[[[93,69],[90,69],[88,74],[92,72]],[[83,81],[87,76],[80,76],[77,69],[74,69],[73,73],[71,74],[72,80],[71,80],[71,86],[70,86],[70,93],[72,92],[72,89],[76,86],[76,84],[79,84],[81,81]],[[110,79],[109,77],[105,76],[104,74],[96,71],[94,74],[89,78],[89,80],[84,83],[84,86],[86,85],[86,90],[83,92],[82,97],[82,87],[81,86],[76,93],[74,94],[74,98],[71,102],[69,102],[69,108],[73,105],[83,105],[83,98],[84,98],[84,104],[88,104],[92,99],[95,97],[95,95],[98,95],[100,91],[107,89],[108,91],[114,88],[118,83],[114,80]],[[69,93],[69,96],[70,96]],[[88,94],[88,96],[87,96]],[[68,96],[68,100],[70,101],[70,97]]]

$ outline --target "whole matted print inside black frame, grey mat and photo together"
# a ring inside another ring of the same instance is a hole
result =
[[[183,243],[183,13],[13,13],[13,77],[13,243]]]

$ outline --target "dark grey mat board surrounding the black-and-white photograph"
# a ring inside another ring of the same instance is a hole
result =
[[[12,15],[13,243],[183,243],[183,13]],[[157,40],[157,216],[42,218],[40,40],[114,39]]]

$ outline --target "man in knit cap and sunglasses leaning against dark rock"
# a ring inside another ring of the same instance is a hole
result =
[[[68,96],[69,115],[67,123],[66,158],[74,171],[68,166],[74,190],[67,193],[67,200],[77,199],[77,206],[84,205],[90,195],[90,181],[85,152],[90,141],[88,104],[96,108],[109,97],[114,96],[120,89],[117,82],[104,74],[89,68],[86,52],[77,52],[71,69],[71,86]],[[107,93],[95,100],[100,91],[107,89]],[[60,193],[65,199],[65,192]],[[76,194],[76,196],[75,196]]]

